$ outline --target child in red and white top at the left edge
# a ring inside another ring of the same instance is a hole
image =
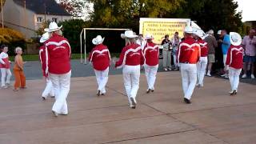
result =
[[[0,70],[1,70],[1,86],[3,89],[8,88],[8,86],[6,85],[10,85],[10,61],[9,61],[9,57],[8,57],[8,47],[7,46],[3,46],[2,48],[2,53],[0,54]],[[6,74],[7,74],[7,78],[6,78]],[[6,82],[5,82],[6,80]]]

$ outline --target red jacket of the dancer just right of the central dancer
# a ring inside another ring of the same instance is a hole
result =
[[[145,56],[145,61],[148,66],[158,65],[158,45],[154,44],[153,42],[147,42],[143,50],[143,54]]]

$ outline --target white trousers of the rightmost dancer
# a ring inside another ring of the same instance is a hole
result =
[[[233,67],[230,67],[229,78],[230,78],[231,90],[238,90],[239,75],[241,71],[242,69],[234,69]]]

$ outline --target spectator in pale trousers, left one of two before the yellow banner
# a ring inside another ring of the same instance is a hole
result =
[[[163,70],[171,70],[170,64],[171,64],[171,42],[169,40],[169,35],[165,35],[165,39],[162,40],[162,66]]]

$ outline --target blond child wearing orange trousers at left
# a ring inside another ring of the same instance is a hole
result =
[[[18,91],[18,88],[26,89],[26,77],[23,72],[23,60],[22,60],[22,48],[16,47],[14,61],[14,91]]]

